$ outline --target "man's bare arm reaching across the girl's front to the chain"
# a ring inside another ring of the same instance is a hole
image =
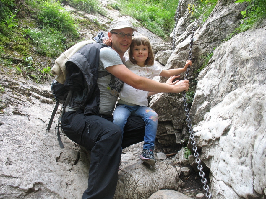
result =
[[[133,88],[156,93],[180,93],[188,91],[189,81],[181,80],[175,85],[156,82],[131,72],[124,64],[106,67],[106,70]]]

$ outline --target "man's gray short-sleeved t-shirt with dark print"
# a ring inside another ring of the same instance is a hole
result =
[[[103,47],[100,50],[99,72],[106,71],[106,67],[123,64],[120,56],[111,47]],[[116,105],[118,93],[123,86],[123,81],[115,77],[115,85],[112,83],[111,74],[97,80],[100,89],[100,114],[111,115]]]

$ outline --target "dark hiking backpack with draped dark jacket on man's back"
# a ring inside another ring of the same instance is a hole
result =
[[[56,81],[56,79],[52,82],[51,93],[56,99],[56,105],[46,130],[50,130],[59,103],[62,103],[63,110],[57,124],[57,138],[60,148],[64,148],[64,144],[60,138],[59,123],[62,121],[62,116],[68,104],[70,104],[71,107],[86,109],[87,104],[91,103],[90,101],[93,101],[94,107],[85,111],[87,111],[86,113],[89,114],[98,115],[100,93],[97,79],[98,77],[103,77],[110,74],[107,71],[98,73],[99,52],[104,46],[106,45],[99,43],[90,43],[84,45],[65,63],[65,68],[68,73],[64,84],[59,83]],[[114,76],[111,75],[111,78],[112,82],[114,83]],[[85,96],[83,91],[88,91]],[[76,96],[78,100],[76,100]],[[97,107],[95,107],[95,99],[91,99],[92,96],[93,98],[97,98]]]

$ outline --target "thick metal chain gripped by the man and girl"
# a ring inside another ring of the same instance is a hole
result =
[[[192,29],[189,31],[189,33],[191,34],[191,39],[190,39],[190,46],[189,46],[189,60],[191,61],[192,60],[192,45],[193,45],[193,37],[194,37],[194,33],[197,29],[197,26],[193,26]],[[186,35],[186,37],[182,40],[184,41],[188,36],[189,36],[189,33]],[[181,42],[182,42],[181,41]],[[184,77],[184,80],[187,80],[187,77],[189,75],[189,70],[190,70],[190,65],[187,67],[187,71],[186,71],[186,76]],[[200,158],[199,158],[199,153],[197,152],[197,147],[195,146],[196,142],[194,140],[194,135],[193,135],[193,130],[192,130],[192,124],[191,124],[191,120],[189,118],[189,108],[187,107],[187,102],[186,102],[186,92],[183,91],[183,101],[184,101],[184,106],[185,106],[185,111],[186,111],[186,121],[187,121],[187,126],[189,127],[189,138],[192,140],[191,141],[191,144],[193,145],[193,151],[194,151],[194,157],[196,158],[195,159],[195,162],[198,164],[197,168],[198,170],[200,170],[200,177],[202,178],[201,179],[201,182],[202,184],[204,184],[203,186],[203,189],[206,191],[206,197],[207,198],[211,198],[212,197],[212,194],[209,192],[209,189],[210,187],[207,185],[207,179],[205,178],[205,173],[202,171],[203,167],[202,165],[200,164]]]

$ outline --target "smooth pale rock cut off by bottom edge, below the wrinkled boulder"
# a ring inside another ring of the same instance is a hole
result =
[[[174,190],[159,190],[149,199],[189,199],[190,197],[186,196],[183,193]]]

